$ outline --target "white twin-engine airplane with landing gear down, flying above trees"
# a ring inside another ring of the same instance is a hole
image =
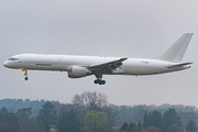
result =
[[[105,85],[102,75],[157,75],[190,68],[193,63],[182,63],[194,33],[184,33],[162,55],[154,59],[129,57],[100,57],[53,54],[19,54],[3,63],[4,67],[28,70],[67,72],[69,78],[96,76],[95,84]]]

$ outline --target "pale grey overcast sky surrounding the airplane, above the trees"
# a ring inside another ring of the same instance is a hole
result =
[[[0,99],[70,102],[75,94],[98,91],[114,105],[198,107],[197,0],[1,0]],[[195,33],[183,62],[190,69],[155,76],[95,76],[8,69],[2,63],[21,53],[155,58],[183,33]]]

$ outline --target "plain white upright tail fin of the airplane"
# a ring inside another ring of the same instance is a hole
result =
[[[183,34],[172,46],[169,46],[157,59],[179,63],[188,47],[194,33]]]

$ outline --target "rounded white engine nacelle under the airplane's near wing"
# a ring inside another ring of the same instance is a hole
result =
[[[80,78],[80,77],[86,77],[90,74],[91,74],[91,72],[89,72],[85,67],[74,66],[74,67],[72,67],[72,70],[68,72],[68,77],[69,78]]]

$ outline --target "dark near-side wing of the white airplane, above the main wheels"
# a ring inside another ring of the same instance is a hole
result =
[[[118,61],[90,65],[90,66],[88,66],[88,69],[90,69],[90,70],[112,72],[116,68],[120,67],[122,65],[122,62],[125,61],[125,59],[128,59],[128,58],[120,58]]]

